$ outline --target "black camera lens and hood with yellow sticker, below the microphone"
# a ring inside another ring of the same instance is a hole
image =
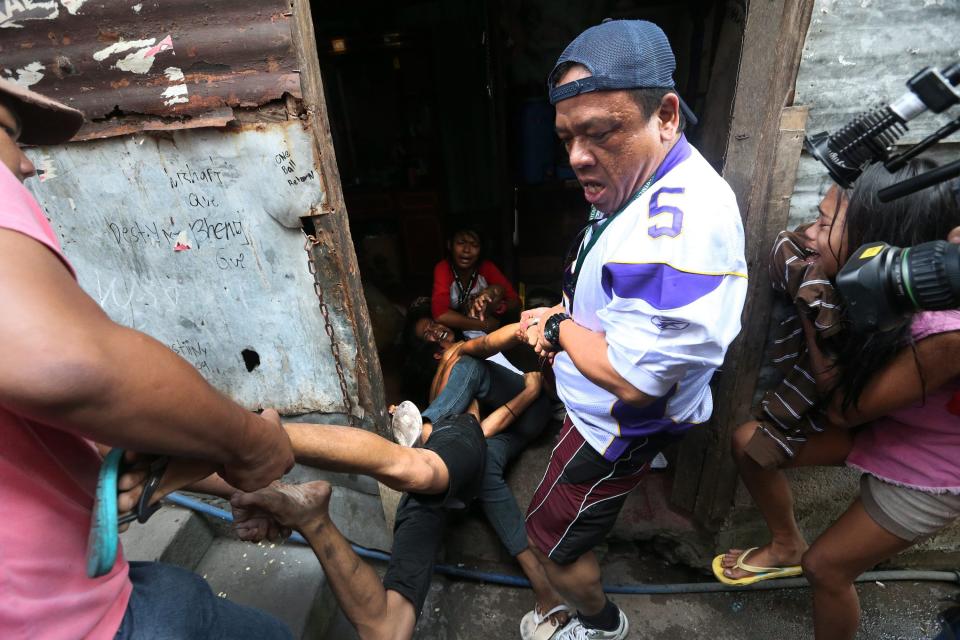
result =
[[[889,331],[920,310],[960,307],[960,245],[945,240],[915,247],[883,242],[854,251],[837,288],[859,331]]]

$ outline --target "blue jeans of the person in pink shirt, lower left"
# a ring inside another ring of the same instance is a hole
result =
[[[133,593],[117,640],[293,640],[273,616],[218,598],[197,574],[159,562],[131,562]]]

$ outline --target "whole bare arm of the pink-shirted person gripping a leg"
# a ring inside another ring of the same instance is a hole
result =
[[[111,446],[248,468],[240,486],[264,486],[292,465],[279,424],[111,321],[49,249],[2,229],[0,299],[0,405],[14,413]]]

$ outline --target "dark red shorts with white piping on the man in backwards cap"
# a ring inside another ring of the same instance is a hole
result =
[[[638,438],[616,461],[591,447],[570,418],[527,508],[527,536],[557,564],[569,564],[610,533],[627,494],[657,453],[679,434]]]

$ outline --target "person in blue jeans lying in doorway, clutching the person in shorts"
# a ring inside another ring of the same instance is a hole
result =
[[[523,513],[505,478],[507,465],[543,432],[551,413],[549,399],[540,391],[539,372],[522,374],[500,355],[525,344],[517,335],[519,325],[507,325],[489,335],[457,341],[453,330],[434,322],[422,310],[411,308],[409,315],[411,336],[421,342],[412,351],[417,354],[415,357],[424,361],[420,368],[428,371],[432,366],[434,373],[430,382],[430,404],[423,412],[422,420],[412,407],[412,425],[407,429],[429,434],[431,423],[463,412],[472,401],[479,401],[480,407],[489,412],[483,424],[487,438],[487,465],[478,501],[500,541],[517,559],[533,587],[536,602],[533,615],[521,625],[525,630],[523,633],[532,637],[534,631],[531,628],[552,628],[566,623],[569,618],[567,607],[547,579],[543,565],[530,550]],[[498,355],[500,359],[491,360]],[[531,379],[536,381],[534,387],[529,386]],[[525,380],[535,400],[521,411],[510,398],[524,389]],[[409,403],[401,404],[396,422],[405,421],[404,414],[409,408]],[[514,417],[515,420],[507,425],[502,420],[495,420],[498,416]]]

